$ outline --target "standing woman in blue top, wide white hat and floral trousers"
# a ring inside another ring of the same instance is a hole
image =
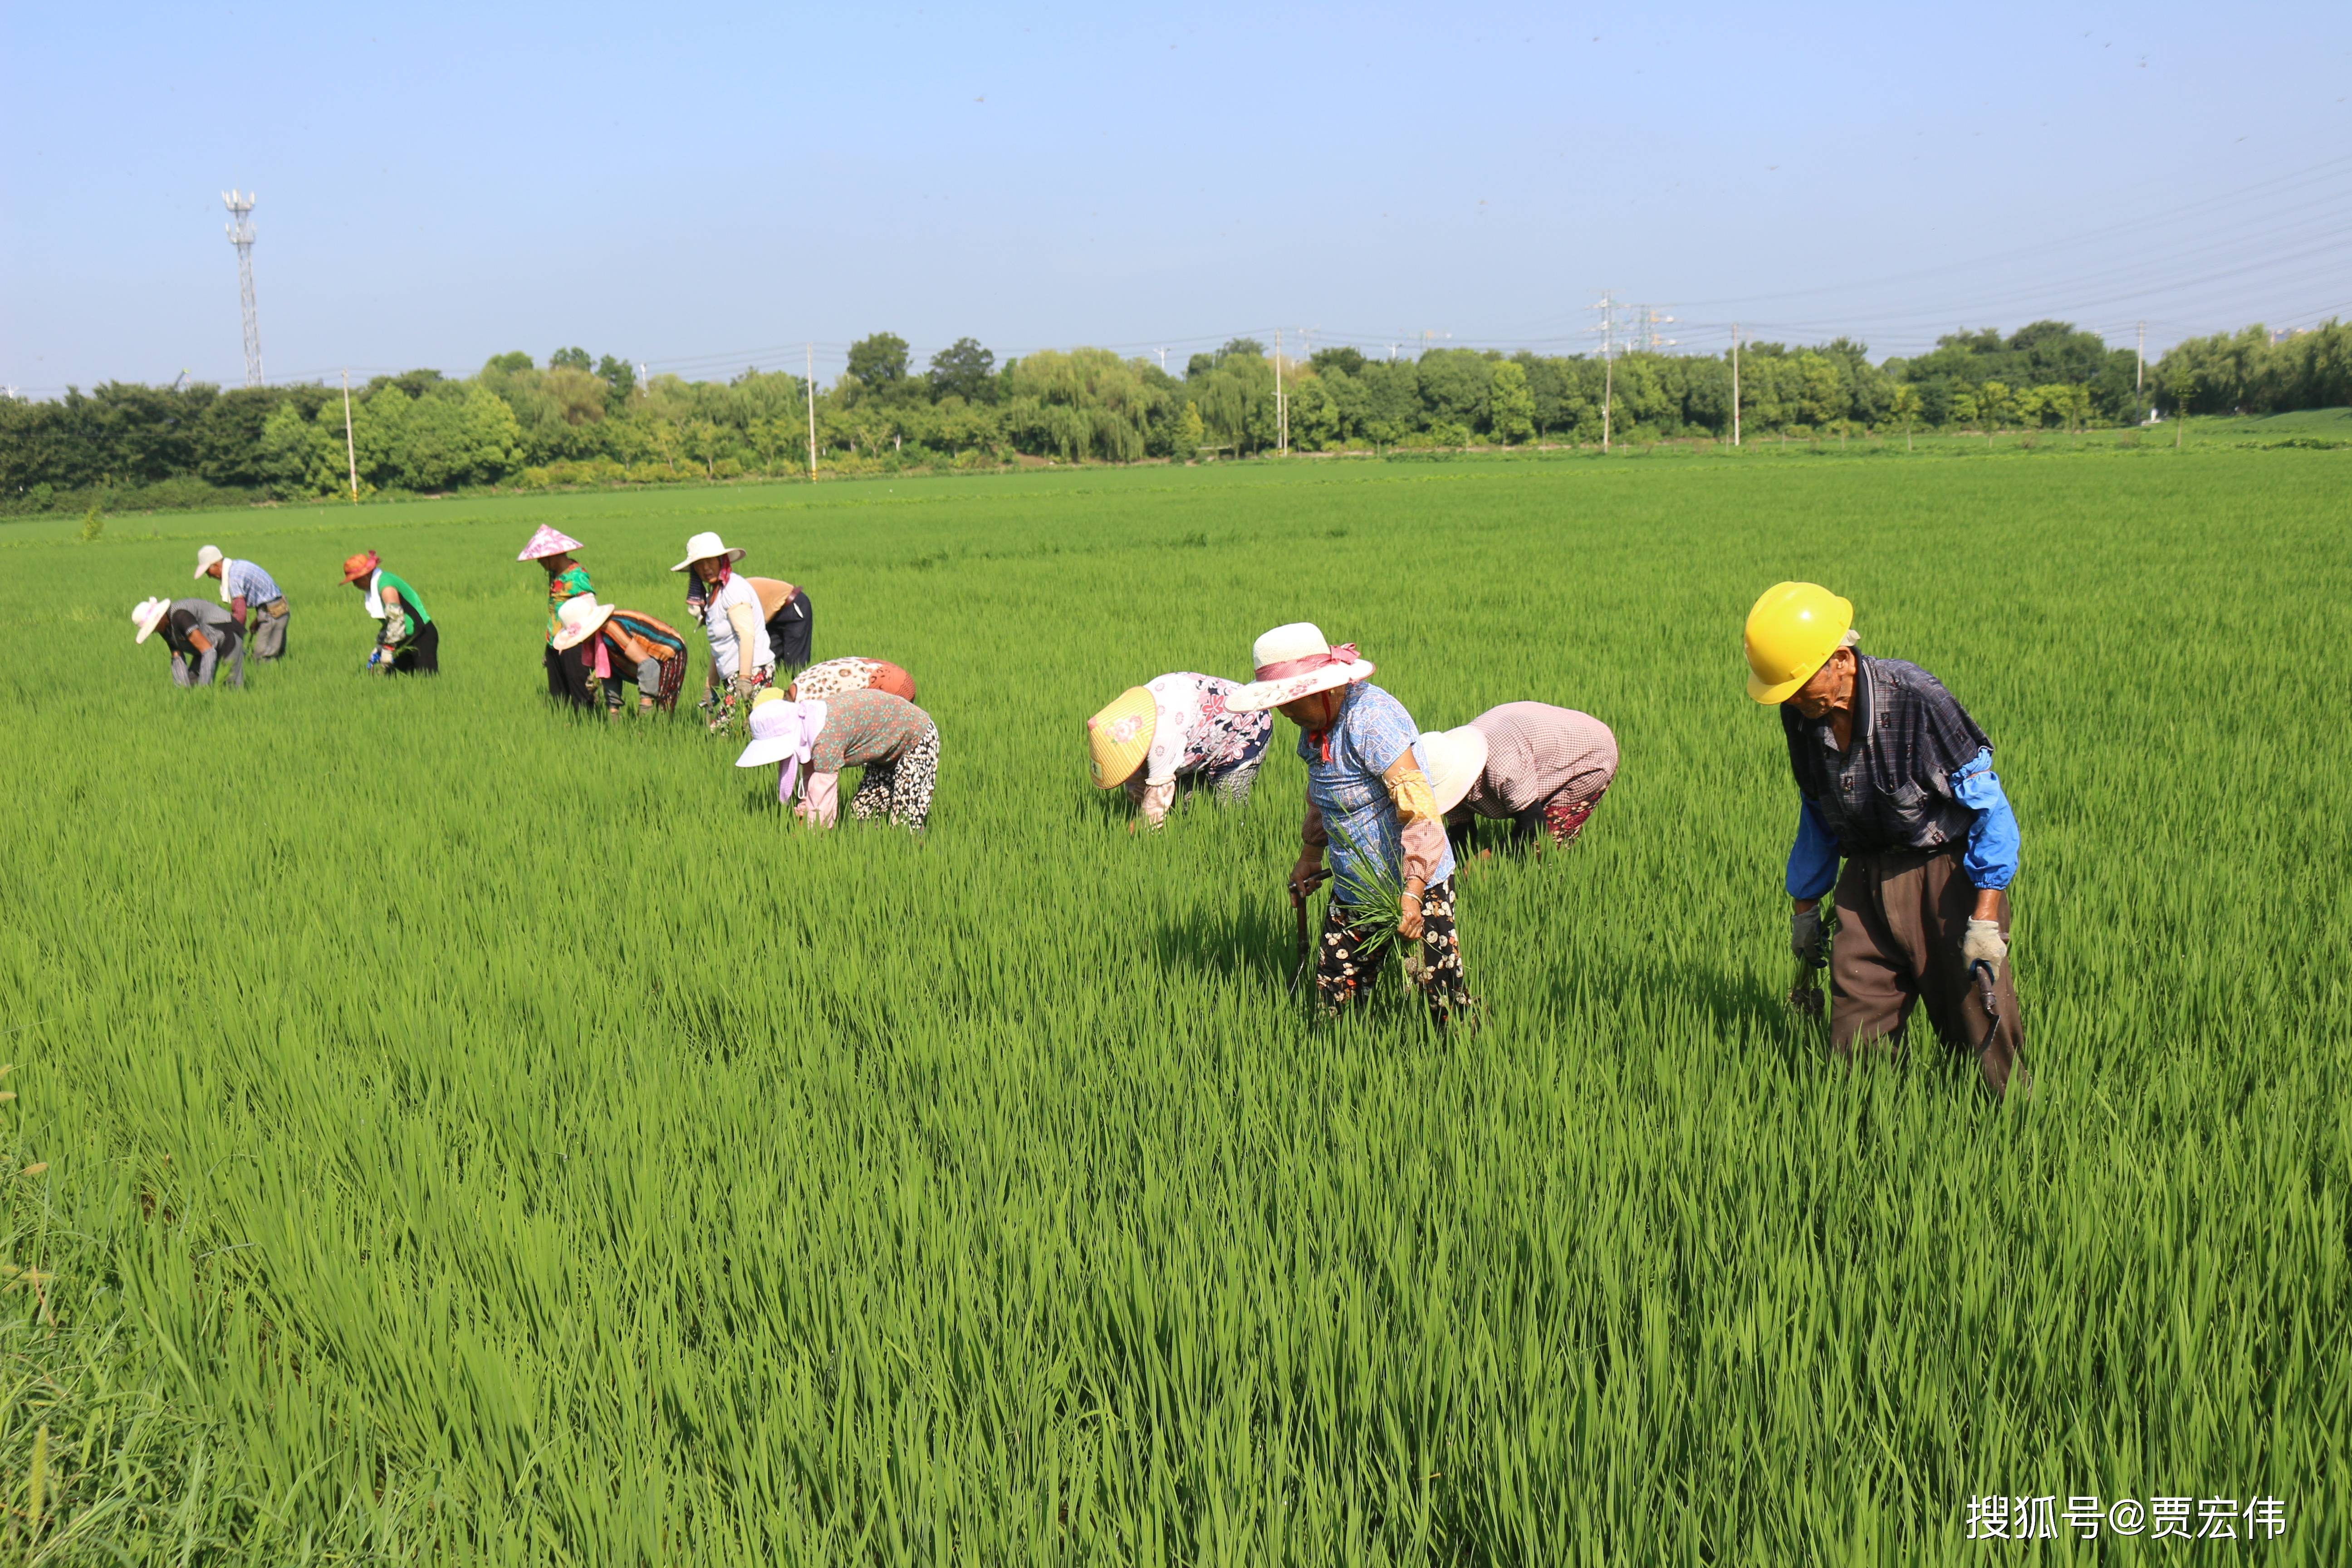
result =
[[[1258,637],[1251,663],[1258,679],[1228,708],[1277,708],[1298,726],[1298,757],[1308,764],[1305,846],[1291,870],[1291,891],[1305,896],[1324,879],[1331,851],[1331,905],[1315,950],[1315,992],[1336,1013],[1371,990],[1378,945],[1357,907],[1376,889],[1397,891],[1397,936],[1414,943],[1406,973],[1439,1025],[1468,1016],[1461,936],[1454,926],[1454,846],[1430,795],[1418,729],[1404,703],[1374,686],[1371,661],[1355,644],[1334,649],[1322,630],[1301,621]],[[1364,957],[1367,947],[1376,947]]]

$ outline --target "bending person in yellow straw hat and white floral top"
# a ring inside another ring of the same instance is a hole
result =
[[[1103,790],[1127,788],[1143,820],[1157,827],[1176,804],[1176,780],[1240,806],[1265,762],[1275,719],[1232,708],[1240,684],[1214,675],[1162,675],[1129,686],[1087,719],[1087,769]]]

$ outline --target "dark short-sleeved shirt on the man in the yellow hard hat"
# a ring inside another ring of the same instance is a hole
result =
[[[1976,811],[1952,797],[1952,773],[1992,741],[1919,665],[1865,656],[1853,663],[1853,750],[1844,757],[1828,717],[1780,705],[1797,792],[1849,860],[1966,844]]]

